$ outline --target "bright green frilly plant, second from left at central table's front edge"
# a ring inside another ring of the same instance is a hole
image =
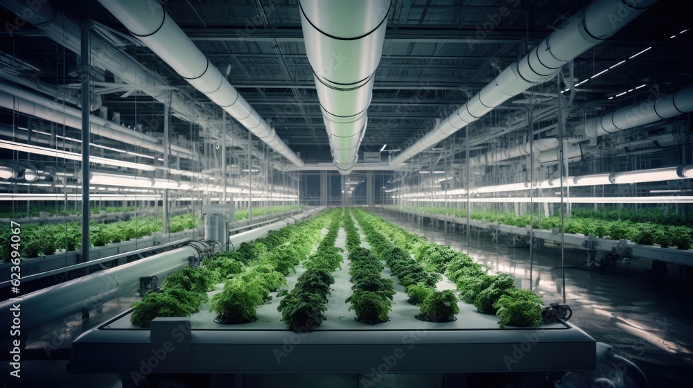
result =
[[[224,324],[243,324],[255,319],[265,290],[256,282],[227,281],[224,290],[212,297],[211,311]]]

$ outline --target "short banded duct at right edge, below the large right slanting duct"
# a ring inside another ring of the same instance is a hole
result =
[[[590,118],[575,129],[584,130],[586,136],[598,137],[688,112],[693,112],[693,86],[656,100],[647,100],[644,103],[618,109],[602,117]]]

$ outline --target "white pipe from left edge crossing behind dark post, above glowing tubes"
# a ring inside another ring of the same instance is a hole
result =
[[[34,96],[33,98],[33,100],[39,103],[35,103],[19,96],[12,96],[12,94],[8,94],[2,90],[6,86],[8,85],[0,84],[0,107],[12,109],[15,112],[21,112],[28,116],[52,121],[53,123],[67,125],[68,127],[73,127],[78,130],[82,129],[82,120],[78,116],[67,114],[67,110],[73,108],[62,107],[62,105],[59,103],[53,103],[53,101],[46,100],[45,98],[39,96]],[[25,93],[30,94],[28,92]],[[45,100],[46,104],[40,103],[42,100]],[[60,105],[60,110],[56,109],[53,104]],[[66,109],[66,112],[63,112],[63,109]],[[95,119],[97,117],[91,115],[91,118]],[[130,145],[148,148],[155,152],[164,152],[164,146],[159,144],[157,139],[153,138],[152,136],[130,130],[130,128],[121,127],[121,125],[116,125],[114,123],[110,123],[107,127],[105,125],[94,123],[94,121],[96,120],[92,120],[91,125],[89,126],[91,134],[122,141],[123,143],[128,143]],[[193,159],[193,152],[191,150],[178,146],[171,147],[171,155],[174,155],[175,157],[183,157],[185,159]]]

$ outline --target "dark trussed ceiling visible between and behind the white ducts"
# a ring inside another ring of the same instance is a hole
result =
[[[0,6],[5,3],[0,1]],[[307,162],[331,161],[296,0],[162,3],[213,64],[224,70],[230,66],[231,85],[265,120],[271,120],[292,150],[300,152]],[[393,0],[362,151],[378,151],[385,144],[387,150],[405,148],[431,130],[437,118],[445,118],[465,103],[469,96],[587,3],[584,0]],[[126,33],[98,1],[54,0],[51,5],[76,21],[90,18]],[[0,17],[5,26],[17,21],[16,15],[4,9]],[[693,31],[679,34],[689,26],[690,12],[680,1],[660,0],[614,37],[580,55],[574,60],[573,76],[584,80],[652,47],[610,71],[608,76],[597,77],[579,88],[570,119],[579,120],[644,100],[652,88],[667,92],[689,83]],[[148,48],[128,44],[121,49],[160,73],[170,85],[186,90],[196,103],[218,109],[195,93],[195,89]],[[70,75],[76,66],[76,55],[34,26],[4,33],[0,50],[36,69],[24,69],[23,76],[49,85],[78,82],[78,78]],[[564,73],[570,73],[570,69],[564,69]],[[114,82],[108,72],[105,80]],[[608,99],[642,84],[647,87]],[[556,82],[547,82],[538,89],[555,93],[557,87]],[[109,112],[121,112],[127,123],[141,123],[162,112],[161,103],[141,93],[126,98],[122,93],[106,94],[104,98],[103,105]],[[484,135],[498,128],[501,128],[498,134],[506,134],[508,131],[502,127],[507,127],[512,118],[525,114],[526,98],[520,94],[470,127],[475,150],[499,144],[498,139],[493,139],[496,135]],[[174,129],[179,134],[190,134],[190,125],[183,121],[175,122]],[[150,130],[157,132],[161,128]],[[500,144],[511,140],[504,138]]]

